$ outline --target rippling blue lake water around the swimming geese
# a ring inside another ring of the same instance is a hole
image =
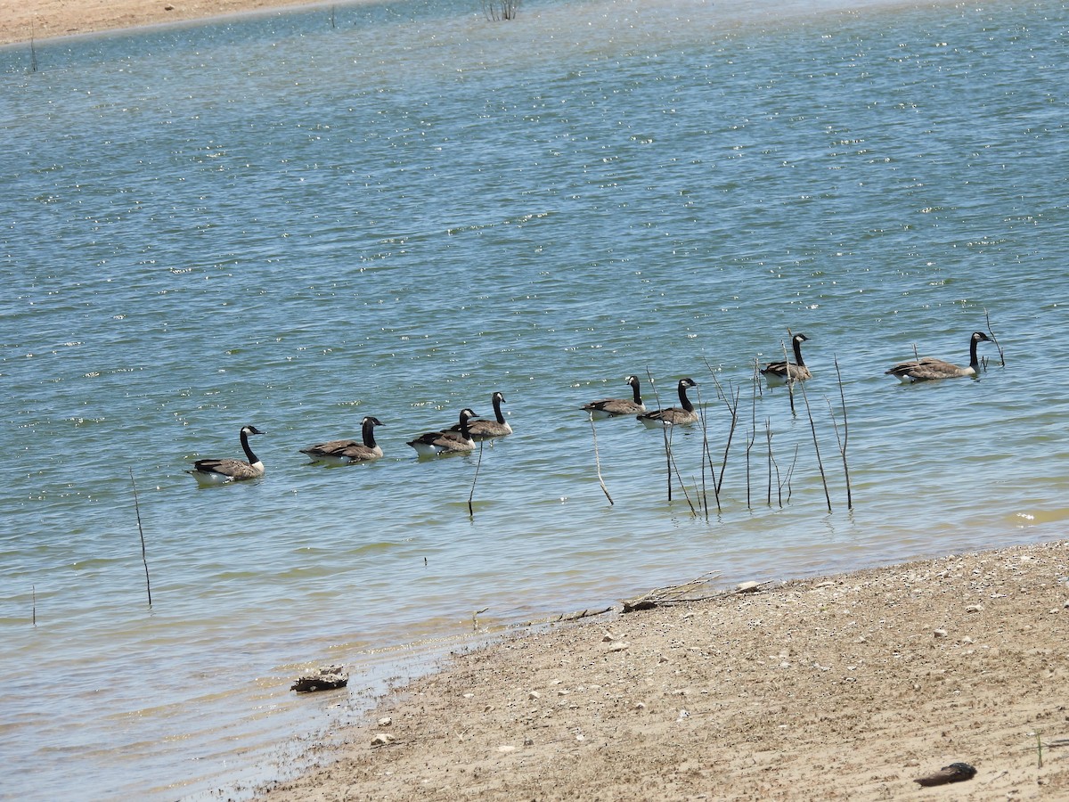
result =
[[[1069,10],[843,5],[0,49],[0,797],[239,798],[476,630],[1063,537]],[[989,328],[979,381],[884,375]],[[752,382],[789,329],[796,415]],[[670,481],[578,410],[631,373],[698,383]],[[405,445],[495,390],[513,435]],[[298,452],[365,415],[379,462]],[[199,490],[250,422],[266,475]],[[347,692],[289,691],[327,663]]]

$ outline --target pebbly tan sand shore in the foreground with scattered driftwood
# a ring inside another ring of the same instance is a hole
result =
[[[1067,575],[1057,541],[510,636],[260,798],[1066,799]]]

